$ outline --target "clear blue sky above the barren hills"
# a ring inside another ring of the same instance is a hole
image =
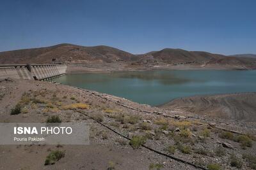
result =
[[[0,52],[72,43],[256,53],[255,7],[255,0],[2,0]]]

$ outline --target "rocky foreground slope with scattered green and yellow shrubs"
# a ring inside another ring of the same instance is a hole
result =
[[[0,94],[1,122],[46,122],[56,115],[62,122],[90,125],[90,145],[1,145],[2,169],[255,168],[255,124],[182,117],[178,115],[186,111],[180,109],[162,110],[42,81],[1,80]],[[18,103],[21,113],[10,115]],[[65,152],[65,157],[44,165],[47,155],[56,150]]]

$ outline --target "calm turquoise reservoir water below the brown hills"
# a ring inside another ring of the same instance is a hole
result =
[[[203,94],[256,92],[256,71],[132,71],[67,74],[54,81],[156,106]]]

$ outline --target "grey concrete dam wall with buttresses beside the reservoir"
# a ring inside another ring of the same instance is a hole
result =
[[[66,74],[64,64],[13,64],[0,65],[0,78],[50,80]]]

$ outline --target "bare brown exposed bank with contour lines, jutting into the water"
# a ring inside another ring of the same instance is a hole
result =
[[[256,122],[256,93],[184,97],[163,104],[160,108],[182,108],[198,115]]]

